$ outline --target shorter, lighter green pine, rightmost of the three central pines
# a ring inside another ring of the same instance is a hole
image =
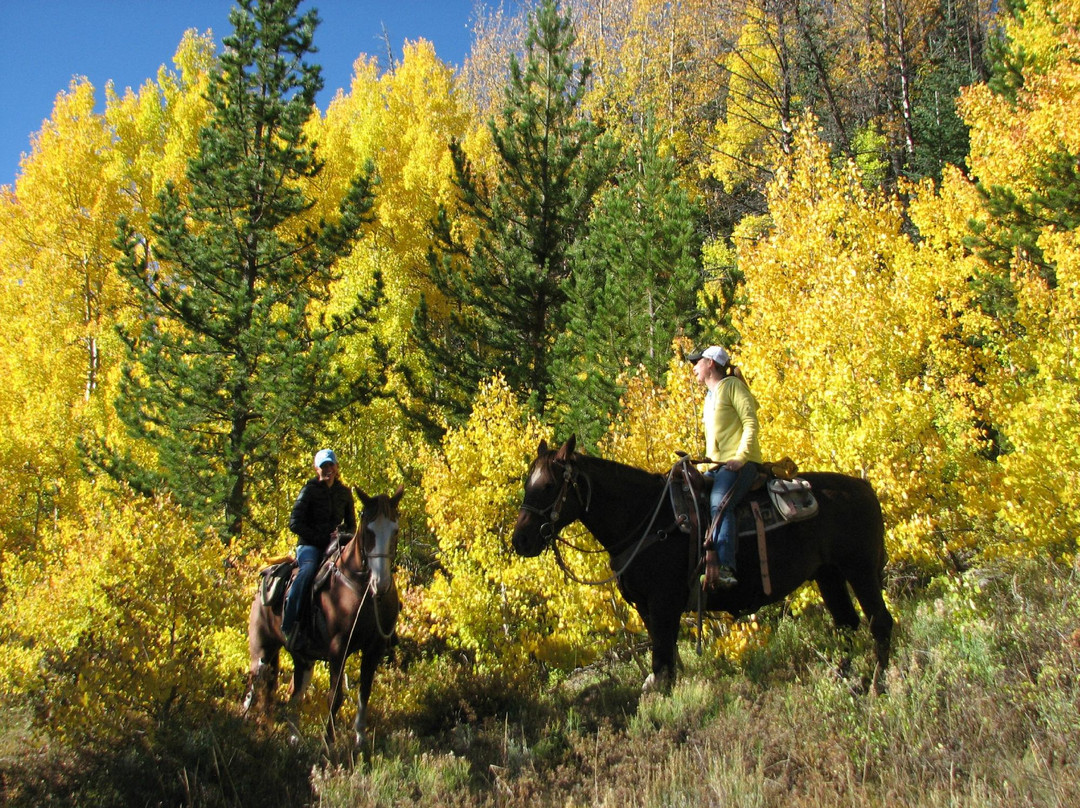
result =
[[[568,327],[555,346],[562,430],[595,445],[618,412],[620,375],[644,366],[658,383],[672,340],[701,315],[701,211],[651,130],[627,151],[575,245]]]

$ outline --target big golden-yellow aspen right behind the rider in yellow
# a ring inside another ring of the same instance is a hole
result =
[[[937,362],[950,289],[919,260],[899,200],[866,190],[852,164],[834,170],[812,124],[769,187],[771,230],[739,245],[734,360],[761,404],[766,454],[867,477],[893,556],[932,565],[970,541],[955,484],[978,464]]]

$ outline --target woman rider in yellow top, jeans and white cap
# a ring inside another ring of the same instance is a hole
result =
[[[705,455],[719,464],[705,473],[712,480],[705,548],[717,555],[717,564],[706,566],[706,585],[728,589],[738,583],[735,506],[746,496],[761,463],[757,400],[720,346],[694,351],[687,361],[693,364],[698,381],[708,388],[702,407]]]

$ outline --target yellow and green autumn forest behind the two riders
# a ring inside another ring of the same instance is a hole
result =
[[[0,693],[35,727],[232,710],[321,446],[405,484],[414,657],[514,682],[627,643],[611,588],[508,553],[522,475],[570,433],[698,449],[711,342],[768,456],[873,483],[894,591],[1071,563],[1076,0],[545,2],[458,72],[361,56],[325,111],[296,5],[104,112],[73,82],[2,190]]]

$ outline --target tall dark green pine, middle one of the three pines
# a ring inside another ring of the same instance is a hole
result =
[[[498,164],[477,176],[460,144],[450,145],[462,213],[478,226],[467,248],[440,216],[432,279],[449,301],[432,321],[421,301],[414,336],[435,369],[426,400],[461,416],[481,380],[500,373],[543,413],[552,398],[552,347],[566,325],[569,251],[585,229],[616,147],[580,112],[588,60],[571,60],[569,15],[545,0],[529,17],[524,67],[511,58],[499,120],[490,122]]]

